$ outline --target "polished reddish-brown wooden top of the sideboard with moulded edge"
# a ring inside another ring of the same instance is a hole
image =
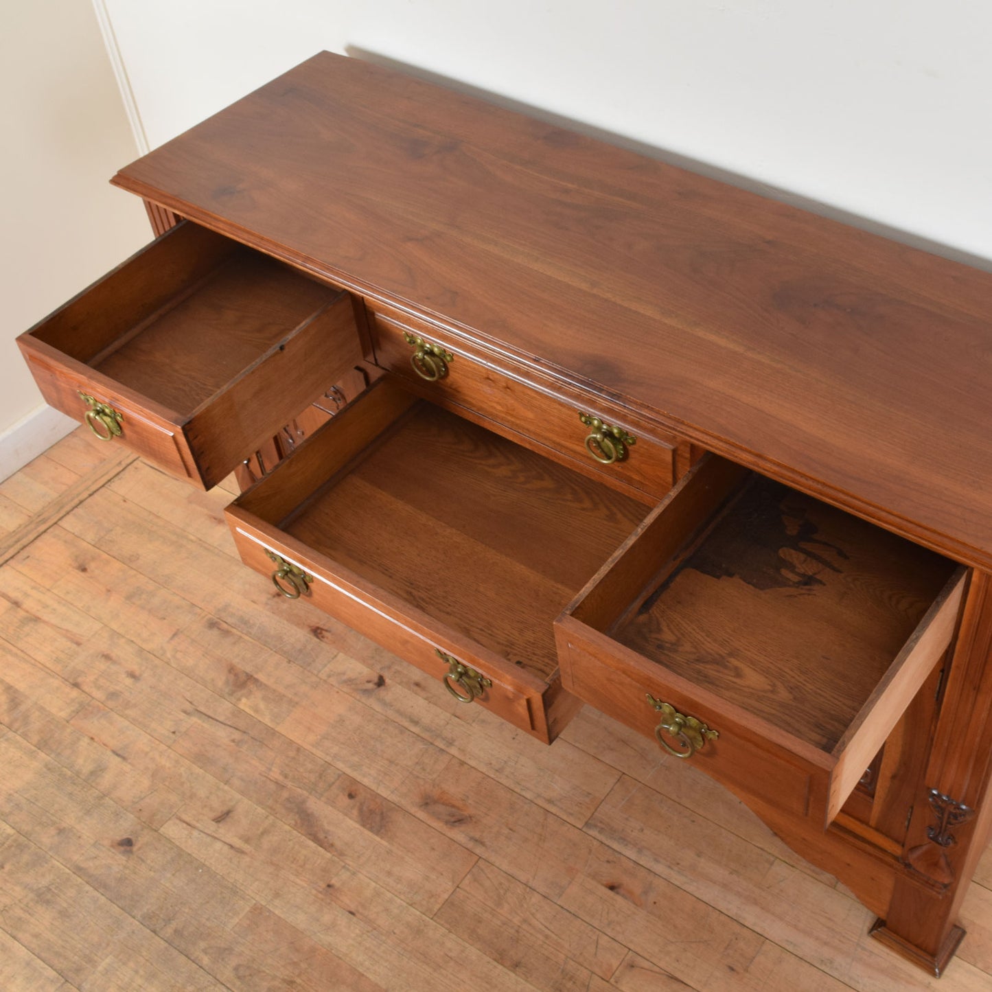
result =
[[[992,274],[327,53],[114,183],[992,567]]]

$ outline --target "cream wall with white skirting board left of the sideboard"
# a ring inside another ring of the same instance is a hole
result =
[[[107,181],[136,155],[92,7],[8,4],[0,32],[0,479],[72,422],[48,411],[14,338],[150,237]]]

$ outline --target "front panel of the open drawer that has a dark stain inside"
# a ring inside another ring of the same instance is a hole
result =
[[[806,765],[795,755],[748,734],[726,715],[663,679],[645,678],[615,658],[604,660],[594,645],[583,645],[566,625],[558,627],[558,653],[562,684],[568,692],[646,737],[659,740],[655,731],[662,720],[649,694],[715,731],[717,737],[706,737],[684,760],[742,799],[753,797],[801,818],[817,807],[821,809],[828,783],[825,770]],[[684,753],[682,743],[664,730],[661,739]],[[659,747],[664,750],[665,744],[659,742]]]

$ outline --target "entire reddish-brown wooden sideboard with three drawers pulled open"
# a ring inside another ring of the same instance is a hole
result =
[[[656,737],[939,973],[992,816],[992,276],[328,54],[114,183],[161,236],[20,339],[50,403],[236,468],[260,581],[438,691]]]

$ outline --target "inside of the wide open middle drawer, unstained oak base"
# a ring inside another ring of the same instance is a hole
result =
[[[555,617],[647,512],[423,400],[299,497],[280,531],[543,679]]]

